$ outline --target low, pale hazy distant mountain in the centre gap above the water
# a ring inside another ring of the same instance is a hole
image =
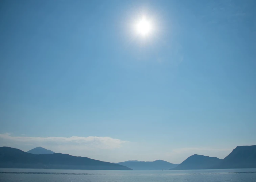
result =
[[[162,170],[162,169],[173,168],[179,165],[179,164],[172,164],[164,160],[156,160],[153,162],[125,161],[125,162],[118,162],[117,164],[127,166],[129,168],[132,168],[133,170]]]

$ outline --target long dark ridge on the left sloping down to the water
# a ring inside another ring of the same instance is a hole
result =
[[[44,168],[74,170],[132,170],[129,167],[69,154],[30,154],[19,149],[0,147],[2,168]]]

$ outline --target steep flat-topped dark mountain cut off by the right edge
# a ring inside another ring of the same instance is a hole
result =
[[[256,168],[256,145],[236,147],[215,168]]]

